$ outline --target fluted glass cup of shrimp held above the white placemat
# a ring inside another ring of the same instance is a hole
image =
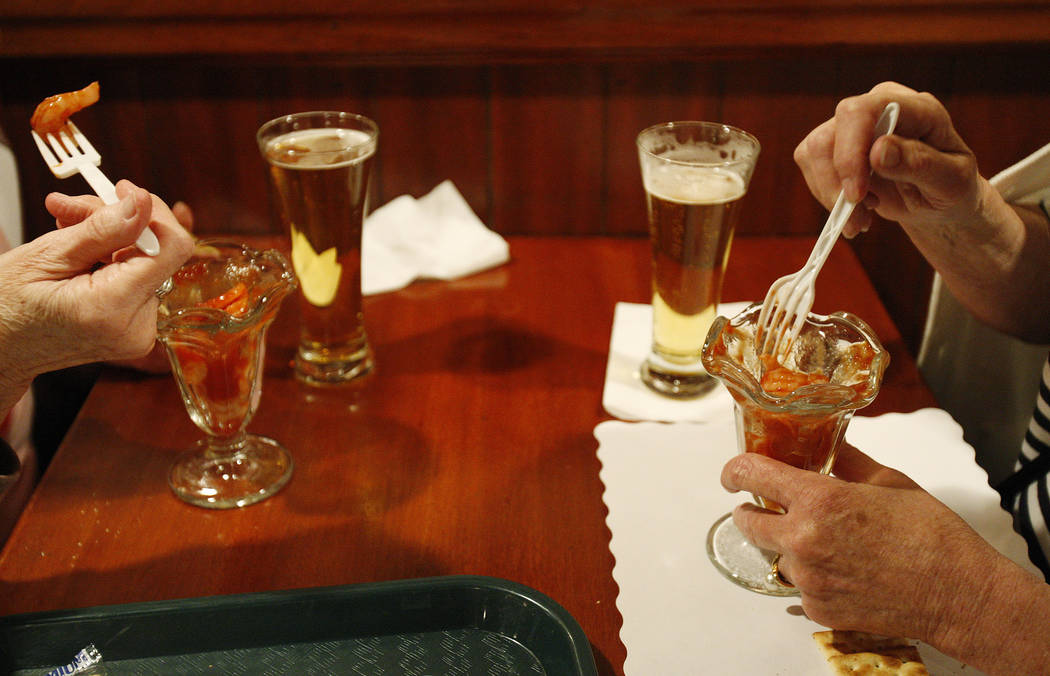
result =
[[[734,401],[740,452],[757,452],[828,473],[854,413],[875,400],[889,354],[859,317],[811,313],[780,362],[755,350],[761,305],[718,317],[704,345],[704,365]],[[779,504],[755,495],[764,509]],[[752,545],[726,514],[708,533],[708,555],[733,583],[772,596],[797,595],[774,564],[779,555]]]

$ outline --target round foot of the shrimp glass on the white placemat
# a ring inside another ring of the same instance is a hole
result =
[[[708,557],[727,579],[766,596],[798,596],[797,589],[784,587],[773,577],[776,555],[748,542],[731,513],[716,521],[708,532]]]

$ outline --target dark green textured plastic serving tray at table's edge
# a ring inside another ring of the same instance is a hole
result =
[[[0,673],[39,676],[88,645],[108,676],[597,673],[564,608],[524,585],[479,576],[0,617]]]

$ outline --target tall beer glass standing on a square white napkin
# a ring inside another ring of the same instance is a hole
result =
[[[760,146],[711,122],[649,127],[637,146],[652,245],[652,348],[642,380],[663,395],[695,397],[714,385],[700,351]]]

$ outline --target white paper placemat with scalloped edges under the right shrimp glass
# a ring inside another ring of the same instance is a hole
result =
[[[711,525],[748,500],[718,482],[737,452],[732,417],[707,424],[608,421],[594,436],[616,559],[626,676],[824,676],[827,666],[812,638],[824,628],[802,613],[797,597],[741,589],[708,561]],[[1035,571],[948,414],[928,408],[858,417],[846,438],[909,474],[996,549]],[[979,674],[929,646],[919,650],[931,674]]]

